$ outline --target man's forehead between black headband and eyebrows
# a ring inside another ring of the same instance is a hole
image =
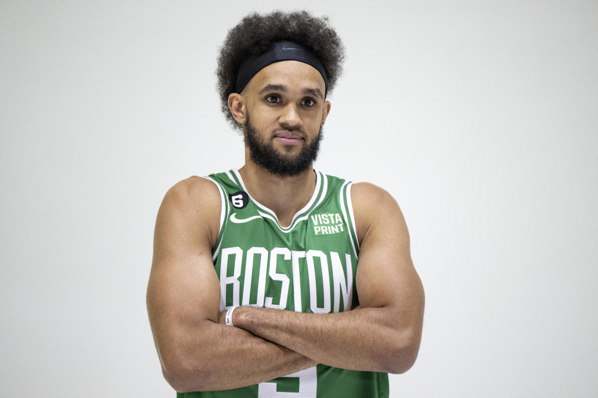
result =
[[[324,78],[315,67],[301,61],[280,61],[270,64],[256,73],[248,88],[260,91],[265,85],[285,85],[289,90],[319,88],[325,92]]]

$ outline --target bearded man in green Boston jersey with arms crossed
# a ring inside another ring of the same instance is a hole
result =
[[[423,288],[398,205],[312,166],[342,58],[305,12],[252,14],[222,46],[245,165],[166,193],[147,292],[181,397],[388,397],[416,359]]]

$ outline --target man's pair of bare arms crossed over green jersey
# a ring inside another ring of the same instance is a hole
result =
[[[407,227],[382,189],[355,184],[352,199],[361,240],[359,308],[307,314],[240,307],[231,328],[218,312],[211,258],[220,214],[216,187],[190,178],[169,190],[156,222],[147,304],[163,374],[175,390],[243,387],[316,363],[392,373],[413,365],[423,288],[411,263]]]

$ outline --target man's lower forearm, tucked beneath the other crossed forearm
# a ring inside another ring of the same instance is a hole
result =
[[[228,390],[285,376],[316,363],[248,331],[206,321],[202,332],[179,343],[182,353],[170,382],[180,392]],[[166,372],[165,372],[166,375]],[[167,377],[168,379],[168,377]]]

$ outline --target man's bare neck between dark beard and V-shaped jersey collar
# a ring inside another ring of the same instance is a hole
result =
[[[283,227],[291,224],[293,216],[303,209],[316,188],[313,166],[292,177],[271,174],[246,159],[239,169],[249,195],[276,214]]]

